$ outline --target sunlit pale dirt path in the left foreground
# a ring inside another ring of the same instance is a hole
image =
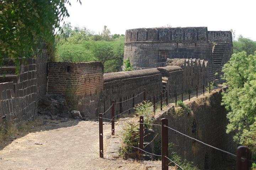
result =
[[[106,124],[103,129],[111,129],[111,125]],[[48,120],[33,130],[35,132],[15,139],[0,151],[0,170],[135,170],[142,167],[138,162],[122,158],[99,158],[96,121]]]

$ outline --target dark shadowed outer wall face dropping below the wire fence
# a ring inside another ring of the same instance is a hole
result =
[[[161,124],[161,119],[167,118],[169,127],[209,145],[235,153],[232,135],[225,132],[228,123],[227,111],[220,105],[221,100],[221,90],[218,90],[210,96],[188,103],[193,114],[183,113],[183,115],[177,116],[174,107],[170,107],[168,111],[164,111],[160,115],[156,114],[154,123]],[[155,134],[161,134],[160,126],[153,126],[153,129]],[[174,143],[175,152],[183,159],[194,162],[199,169],[204,170],[205,162],[209,164],[210,169],[214,169],[227,156],[225,153],[204,146],[175,131],[169,130],[168,132],[169,143]],[[156,140],[160,141],[159,135]],[[208,156],[208,160],[206,156]]]

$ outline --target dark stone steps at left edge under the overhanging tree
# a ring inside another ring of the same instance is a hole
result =
[[[15,74],[15,63],[11,59],[4,59],[3,66],[0,67],[0,83],[11,82],[17,83],[17,75]]]

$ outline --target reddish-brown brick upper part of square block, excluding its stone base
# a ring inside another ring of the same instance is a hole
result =
[[[90,96],[103,89],[101,62],[53,62],[48,67],[49,93],[63,94],[68,83],[77,86],[76,95]]]

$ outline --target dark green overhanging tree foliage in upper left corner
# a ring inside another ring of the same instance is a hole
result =
[[[1,0],[0,4],[0,65],[3,58],[14,58],[18,65],[18,58],[33,57],[39,40],[53,44],[55,30],[62,30],[60,21],[69,16],[65,4],[71,5],[69,0]]]

